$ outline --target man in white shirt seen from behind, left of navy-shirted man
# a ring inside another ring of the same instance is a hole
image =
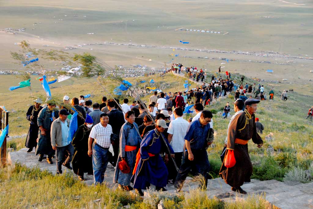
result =
[[[168,142],[170,143],[171,147],[174,150],[175,154],[175,162],[177,167],[179,168],[182,164],[182,154],[184,152],[184,144],[187,129],[189,123],[182,118],[182,108],[175,108],[174,110],[175,120],[173,120],[170,125],[168,126]],[[177,171],[174,166],[167,164],[168,172],[168,179],[173,179],[175,181],[177,176]],[[174,168],[174,169],[173,169]]]

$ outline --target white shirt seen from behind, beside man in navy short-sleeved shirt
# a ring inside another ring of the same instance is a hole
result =
[[[172,141],[170,143],[174,152],[183,152],[185,144],[185,136],[187,133],[189,123],[182,117],[177,117],[175,120],[170,122],[167,133],[172,134]]]

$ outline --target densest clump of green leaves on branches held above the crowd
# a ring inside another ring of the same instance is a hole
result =
[[[82,64],[83,76],[90,78],[94,75],[101,75],[105,69],[97,62],[96,57],[92,56],[90,53],[75,54],[73,57],[74,61],[78,61]]]

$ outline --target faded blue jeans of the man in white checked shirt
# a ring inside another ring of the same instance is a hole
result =
[[[95,142],[92,144],[92,168],[94,170],[94,183],[101,184],[109,162],[109,148],[102,148]]]

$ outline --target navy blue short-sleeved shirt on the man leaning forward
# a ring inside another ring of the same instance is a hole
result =
[[[208,123],[202,127],[199,119],[190,123],[185,140],[190,142],[191,149],[203,149],[206,146],[209,129],[210,124]]]

